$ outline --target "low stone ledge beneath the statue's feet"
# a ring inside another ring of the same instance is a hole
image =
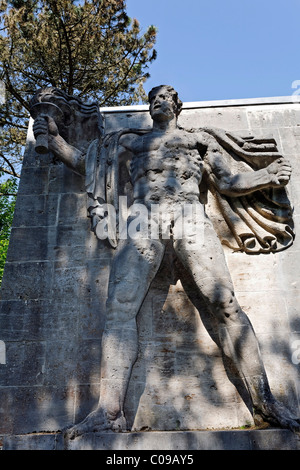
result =
[[[88,433],[71,441],[61,433],[39,433],[0,441],[3,450],[300,450],[300,436],[282,429]]]

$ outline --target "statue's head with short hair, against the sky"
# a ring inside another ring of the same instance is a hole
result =
[[[152,119],[166,120],[178,116],[182,109],[182,101],[178,93],[169,85],[152,88],[148,95]]]

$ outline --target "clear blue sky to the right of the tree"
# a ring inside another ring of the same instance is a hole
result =
[[[300,0],[126,4],[143,31],[158,28],[147,92],[169,84],[187,102],[288,96],[300,84]]]

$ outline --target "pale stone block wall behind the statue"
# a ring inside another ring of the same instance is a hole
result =
[[[299,365],[292,354],[300,339],[300,104],[286,101],[204,108],[186,104],[179,125],[272,135],[292,164],[288,189],[294,244],[259,255],[224,250],[272,391],[298,414]],[[103,115],[106,132],[151,127],[147,110],[105,110]],[[213,215],[211,205],[209,200]],[[112,256],[113,250],[90,229],[84,181],[51,155],[35,153],[30,126],[1,291],[6,364],[0,364],[0,434],[57,431],[96,405]],[[139,356],[125,402],[130,426],[180,430],[252,423],[243,384],[224,369],[205,306],[199,305],[199,315],[187,295],[188,280],[182,285],[174,279],[164,263],[138,316]]]

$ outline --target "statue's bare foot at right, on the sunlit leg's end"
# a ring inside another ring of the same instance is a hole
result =
[[[300,432],[300,419],[276,400],[264,402],[260,407],[255,408],[255,424],[261,425],[262,420],[276,427]]]

